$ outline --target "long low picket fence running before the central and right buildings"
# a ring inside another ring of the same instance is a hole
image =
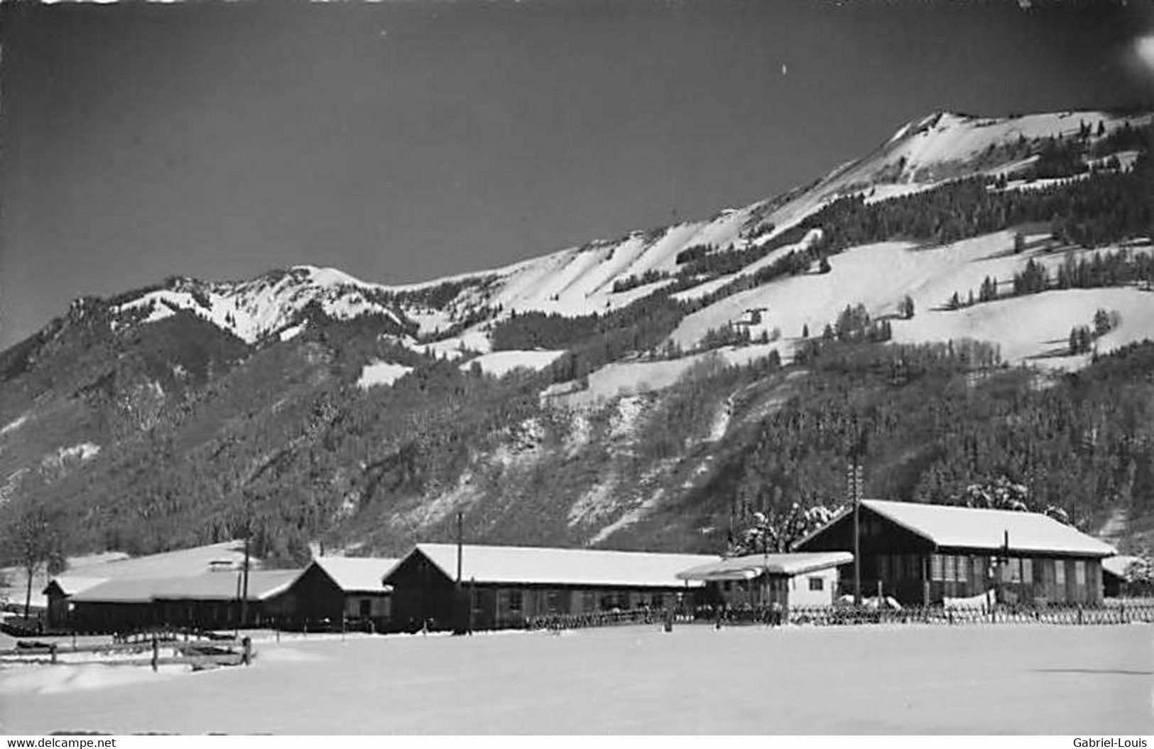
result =
[[[908,608],[869,608],[864,606],[793,606],[769,608],[744,606],[718,608],[700,606],[672,614],[664,609],[644,608],[586,614],[547,614],[525,621],[525,629],[579,629],[616,624],[658,624],[662,622],[710,622],[734,624],[811,624],[835,627],[850,624],[1129,624],[1154,623],[1154,601],[1111,601],[1104,605],[1026,606],[916,606]]]

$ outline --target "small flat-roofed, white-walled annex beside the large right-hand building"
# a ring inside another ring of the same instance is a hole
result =
[[[848,552],[749,554],[694,567],[677,577],[705,584],[706,596],[729,606],[829,606],[838,591]]]

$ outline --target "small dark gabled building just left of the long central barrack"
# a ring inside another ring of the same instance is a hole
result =
[[[346,626],[384,631],[391,619],[392,589],[382,583],[400,561],[383,557],[319,556],[285,592],[291,620],[300,628]]]

